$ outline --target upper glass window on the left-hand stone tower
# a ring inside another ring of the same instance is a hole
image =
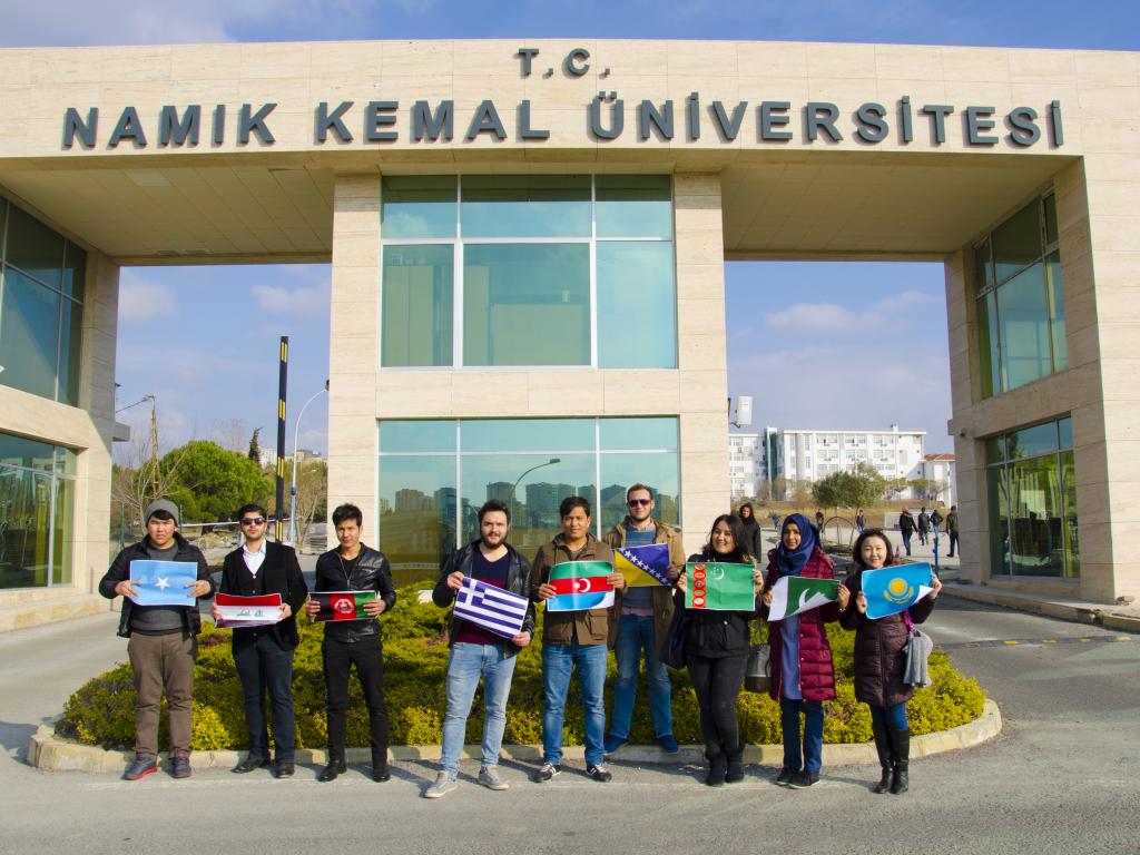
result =
[[[0,198],[0,383],[79,401],[84,252]]]

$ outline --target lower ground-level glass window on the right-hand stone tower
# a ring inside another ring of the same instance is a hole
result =
[[[1072,418],[991,438],[986,464],[994,575],[1077,578]]]

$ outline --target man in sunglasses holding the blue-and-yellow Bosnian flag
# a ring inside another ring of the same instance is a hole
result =
[[[626,519],[610,530],[605,542],[614,549],[668,544],[669,578],[676,579],[685,565],[681,532],[654,520],[654,507],[650,488],[635,483],[626,490]],[[676,754],[678,750],[677,740],[673,735],[673,685],[669,682],[669,669],[660,659],[661,645],[673,620],[673,589],[665,585],[626,588],[621,597],[618,642],[613,648],[618,677],[613,683],[613,712],[610,715],[610,735],[605,738],[606,754],[613,754],[629,739],[629,720],[637,700],[637,671],[643,650],[649,677],[649,709],[657,742],[667,754]]]

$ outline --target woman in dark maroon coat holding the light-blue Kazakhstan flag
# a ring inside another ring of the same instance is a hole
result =
[[[839,618],[844,629],[855,630],[855,700],[871,707],[871,731],[879,755],[882,776],[874,792],[906,792],[910,787],[911,731],[906,701],[912,689],[903,683],[906,670],[906,643],[911,627],[934,611],[942,583],[935,576],[934,591],[910,609],[872,620],[866,617],[863,571],[879,570],[894,563],[890,542],[880,529],[868,529],[855,540],[858,570],[844,580],[850,592],[848,608]]]

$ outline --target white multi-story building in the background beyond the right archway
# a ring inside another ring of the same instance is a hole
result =
[[[873,466],[887,480],[922,478],[926,431],[800,431],[764,429],[765,478],[773,498],[789,498],[797,482],[819,481],[858,464]],[[782,479],[782,480],[777,480]],[[913,498],[904,490],[903,498]],[[782,495],[776,495],[782,494]]]

